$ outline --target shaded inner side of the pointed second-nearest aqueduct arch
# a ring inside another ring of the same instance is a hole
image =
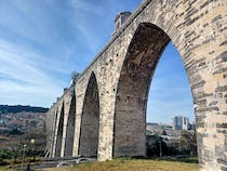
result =
[[[91,74],[85,97],[80,128],[79,155],[96,157],[99,130],[99,97],[97,81],[94,73]]]

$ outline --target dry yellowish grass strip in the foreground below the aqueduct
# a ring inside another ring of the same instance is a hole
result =
[[[81,163],[74,168],[53,168],[45,171],[199,171],[197,163],[163,160],[115,159],[105,162]]]

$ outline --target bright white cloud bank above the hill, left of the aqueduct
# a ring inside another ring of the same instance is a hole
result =
[[[0,40],[0,103],[51,105],[68,82],[56,79],[48,67],[65,73],[42,56]]]

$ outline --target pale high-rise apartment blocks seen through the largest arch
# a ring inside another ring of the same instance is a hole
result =
[[[195,123],[190,123],[188,117],[174,116],[173,130],[196,130]]]

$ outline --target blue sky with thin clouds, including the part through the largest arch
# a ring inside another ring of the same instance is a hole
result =
[[[117,13],[141,0],[1,0],[0,104],[50,107],[110,39]],[[148,121],[193,120],[187,76],[169,44],[151,83]]]

